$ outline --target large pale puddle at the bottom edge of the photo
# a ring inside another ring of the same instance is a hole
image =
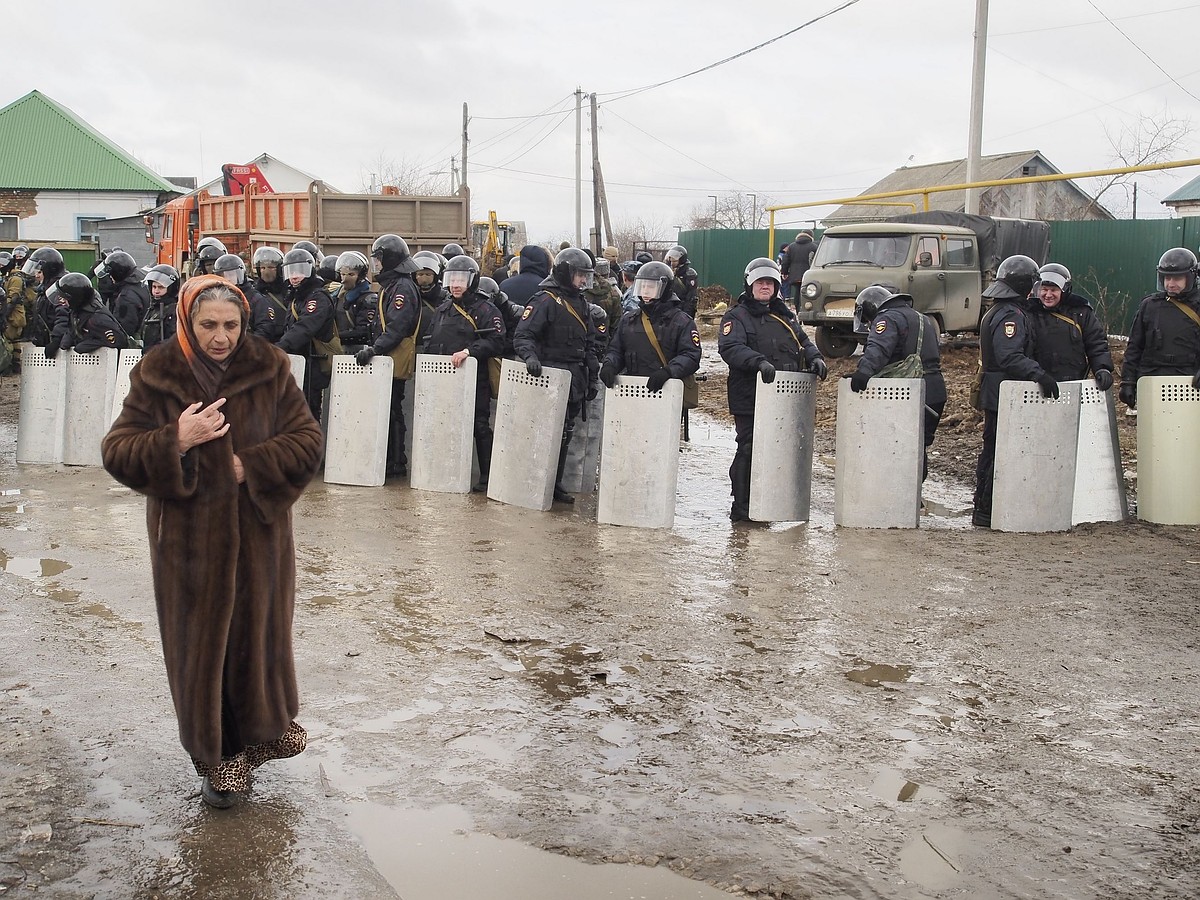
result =
[[[349,827],[376,869],[404,900],[728,900],[710,884],[666,868],[592,864],[515,840],[473,834],[461,806],[349,808]]]

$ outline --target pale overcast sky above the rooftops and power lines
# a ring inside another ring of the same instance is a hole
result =
[[[5,42],[0,103],[41,90],[162,175],[203,182],[268,152],[358,191],[380,162],[449,172],[466,102],[473,215],[496,209],[547,241],[574,236],[582,88],[601,103],[614,224],[672,239],[710,194],[845,197],[966,155],[973,0],[858,0],[623,96],[842,2],[49,0],[35,14],[49,28]],[[992,0],[984,154],[1036,149],[1079,172],[1115,164],[1105,132],[1139,115],[1200,126],[1196,35],[1200,4],[1182,0]],[[586,115],[584,178],[589,128]],[[1200,156],[1198,142],[1200,127],[1172,158]],[[1159,198],[1196,174],[1139,176],[1139,217],[1170,215]]]

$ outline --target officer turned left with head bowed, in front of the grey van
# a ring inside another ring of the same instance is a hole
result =
[[[858,367],[850,376],[850,389],[866,390],[871,378],[886,374],[888,366],[919,353],[925,379],[925,445],[922,450],[920,480],[929,474],[929,448],[946,409],[946,378],[937,325],[912,308],[912,296],[883,284],[863,288],[854,300],[854,331],[866,335]]]

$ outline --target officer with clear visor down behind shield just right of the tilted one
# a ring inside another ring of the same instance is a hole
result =
[[[696,320],[679,308],[674,274],[666,263],[647,263],[634,281],[640,308],[620,317],[600,366],[608,388],[618,374],[646,376],[652,392],[671,378],[686,378],[700,368]]]

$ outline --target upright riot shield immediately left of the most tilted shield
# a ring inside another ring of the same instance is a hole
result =
[[[475,449],[478,360],[455,368],[450,356],[416,354],[413,389],[413,455],[408,484],[420,491],[470,492]]]

